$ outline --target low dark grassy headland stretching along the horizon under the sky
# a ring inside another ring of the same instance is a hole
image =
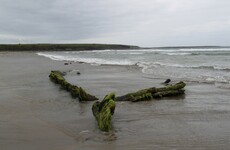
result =
[[[122,44],[0,44],[0,51],[88,51],[106,49],[204,49],[230,48],[229,46],[165,46],[139,47]]]

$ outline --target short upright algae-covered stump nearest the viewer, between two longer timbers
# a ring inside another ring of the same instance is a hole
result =
[[[101,102],[97,101],[92,106],[93,115],[101,131],[108,132],[112,130],[112,115],[116,107],[114,100],[115,93],[110,93]]]

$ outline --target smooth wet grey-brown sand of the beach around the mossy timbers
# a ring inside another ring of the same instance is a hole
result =
[[[135,66],[64,65],[28,52],[0,53],[0,69],[1,149],[229,149],[229,89],[187,83],[184,97],[118,102],[114,132],[105,134],[97,128],[92,102],[72,99],[49,81],[50,70],[66,71],[68,81],[99,98],[163,81]]]

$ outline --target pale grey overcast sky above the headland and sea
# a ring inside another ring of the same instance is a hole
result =
[[[0,0],[0,43],[230,45],[230,0]]]

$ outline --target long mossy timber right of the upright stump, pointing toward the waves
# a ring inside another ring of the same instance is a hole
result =
[[[128,93],[123,96],[116,97],[116,101],[146,101],[152,99],[159,99],[162,97],[172,97],[176,95],[184,94],[183,88],[186,86],[184,82],[178,82],[174,85],[167,85],[165,87],[152,87],[148,89],[139,90],[137,92]]]

